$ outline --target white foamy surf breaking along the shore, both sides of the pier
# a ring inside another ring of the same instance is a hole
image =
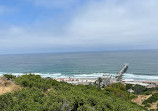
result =
[[[12,74],[14,76],[22,76],[25,74],[30,74],[30,73],[6,73],[6,72],[0,72],[0,76],[3,76],[4,74]],[[40,75],[41,77],[51,77],[51,78],[68,78],[68,77],[73,77],[73,78],[98,78],[98,77],[106,77],[106,76],[111,76],[115,77],[116,74],[114,73],[91,73],[91,74],[62,74],[62,73],[32,73],[35,75]],[[158,76],[155,75],[138,75],[138,74],[132,74],[132,73],[124,73],[122,76],[123,79],[134,79],[134,80],[154,80],[158,81]]]

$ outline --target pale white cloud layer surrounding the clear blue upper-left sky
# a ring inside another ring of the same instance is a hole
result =
[[[38,5],[44,2],[38,0]],[[49,2],[60,6],[65,4],[65,1]],[[157,6],[157,0],[89,2],[62,29],[55,30],[56,26],[46,22],[38,22],[39,25],[33,27],[1,27],[0,49],[45,48],[60,51],[62,48],[71,51],[75,47],[78,48],[76,50],[158,48]]]

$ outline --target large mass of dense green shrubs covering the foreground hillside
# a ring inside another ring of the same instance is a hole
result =
[[[128,100],[122,84],[101,89],[71,85],[38,75],[14,78],[24,88],[0,96],[0,111],[144,111]]]

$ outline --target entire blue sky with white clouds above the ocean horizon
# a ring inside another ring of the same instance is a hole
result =
[[[158,0],[0,0],[0,54],[158,49]]]

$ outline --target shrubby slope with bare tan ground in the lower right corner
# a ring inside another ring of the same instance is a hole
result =
[[[158,106],[156,106],[158,102],[158,87],[153,88],[145,88],[140,85],[126,85],[126,90],[133,89],[134,94],[131,93],[130,99],[141,105],[145,108],[149,109],[150,111],[158,111]]]

